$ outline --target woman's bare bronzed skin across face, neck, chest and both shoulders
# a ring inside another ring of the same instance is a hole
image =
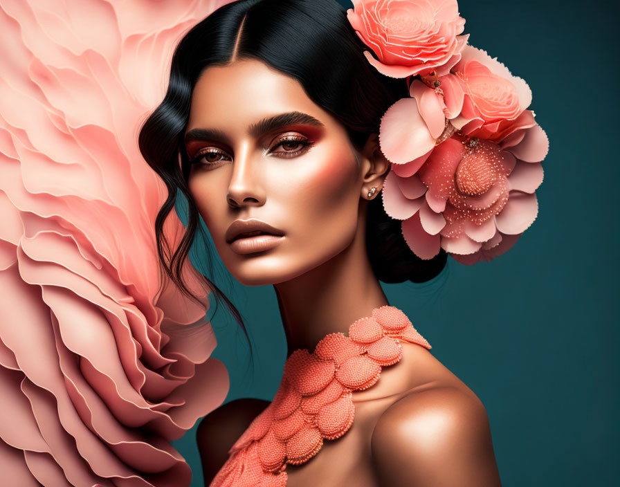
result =
[[[257,122],[291,112],[320,126],[250,133]],[[377,197],[389,169],[376,134],[356,152],[338,120],[299,82],[256,59],[204,71],[186,133],[194,129],[217,129],[225,138],[186,143],[190,158],[202,156],[190,191],[230,273],[249,286],[273,284],[289,353],[311,351],[323,336],[347,333],[354,320],[388,304],[365,248],[367,193],[376,187]],[[284,238],[264,252],[233,252],[226,229],[250,218],[279,228]],[[287,466],[289,487],[500,485],[482,403],[423,347],[403,344],[399,365],[356,392],[354,404],[356,418],[343,438],[326,441],[304,465]],[[235,401],[203,420],[198,441],[206,484],[264,406]]]

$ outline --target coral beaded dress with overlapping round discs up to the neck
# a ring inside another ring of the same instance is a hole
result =
[[[401,340],[430,344],[394,306],[381,306],[330,333],[313,353],[296,350],[284,364],[273,401],[229,450],[210,487],[283,487],[286,464],[316,455],[323,441],[343,436],[354,420],[353,393],[372,387],[381,367],[401,360]]]

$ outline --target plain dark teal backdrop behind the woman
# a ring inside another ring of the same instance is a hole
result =
[[[619,8],[461,0],[459,9],[469,43],[534,93],[551,142],[538,218],[489,264],[448,258],[434,282],[385,293],[484,403],[504,486],[618,485]],[[194,264],[201,252],[193,249]],[[273,288],[246,288],[213,264],[208,275],[239,307],[256,359],[252,374],[244,336],[219,309],[212,323],[232,381],[227,401],[271,400],[286,353]],[[194,470],[192,486],[202,486],[195,428],[174,445]]]

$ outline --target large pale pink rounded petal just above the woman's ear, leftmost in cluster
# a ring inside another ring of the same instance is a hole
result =
[[[413,98],[402,98],[383,114],[379,146],[388,160],[405,164],[426,154],[435,146]]]

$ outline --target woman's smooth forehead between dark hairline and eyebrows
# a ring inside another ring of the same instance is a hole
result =
[[[228,66],[210,66],[203,71],[192,93],[188,129],[215,125],[232,129],[287,111],[332,121],[298,80],[257,59],[238,59]]]

